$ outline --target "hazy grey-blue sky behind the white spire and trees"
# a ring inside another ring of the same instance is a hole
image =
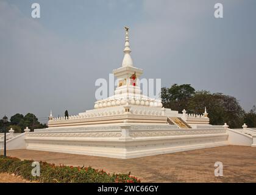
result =
[[[37,2],[41,18],[31,17]],[[224,18],[214,5],[224,5]],[[135,66],[162,87],[191,83],[256,104],[256,1],[0,0],[0,116],[93,108],[94,82],[121,66],[124,26]],[[46,122],[46,121],[44,121]]]

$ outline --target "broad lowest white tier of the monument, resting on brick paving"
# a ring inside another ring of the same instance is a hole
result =
[[[123,122],[36,130],[25,140],[32,150],[126,159],[225,146],[227,137],[222,127],[187,130],[169,124]]]

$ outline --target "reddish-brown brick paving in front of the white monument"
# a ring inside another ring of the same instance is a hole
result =
[[[222,146],[127,160],[29,150],[7,151],[7,155],[107,172],[130,171],[141,182],[256,182],[256,147]],[[224,165],[223,177],[214,175],[216,161]]]

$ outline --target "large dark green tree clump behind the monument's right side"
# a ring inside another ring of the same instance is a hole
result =
[[[232,96],[212,94],[205,90],[195,91],[189,84],[174,84],[171,88],[162,88],[161,98],[164,107],[179,112],[185,108],[187,113],[202,114],[207,107],[210,124],[213,125],[222,125],[224,122],[231,128],[241,128],[243,125],[245,112],[238,100]],[[247,115],[248,118],[253,118],[251,115]]]

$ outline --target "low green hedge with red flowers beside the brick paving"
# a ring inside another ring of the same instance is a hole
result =
[[[38,182],[75,182],[75,183],[137,183],[136,177],[129,174],[109,174],[105,171],[89,167],[56,166],[40,161],[40,177],[32,176],[33,160],[4,157],[0,155],[0,172],[8,172],[22,176],[26,180]]]

